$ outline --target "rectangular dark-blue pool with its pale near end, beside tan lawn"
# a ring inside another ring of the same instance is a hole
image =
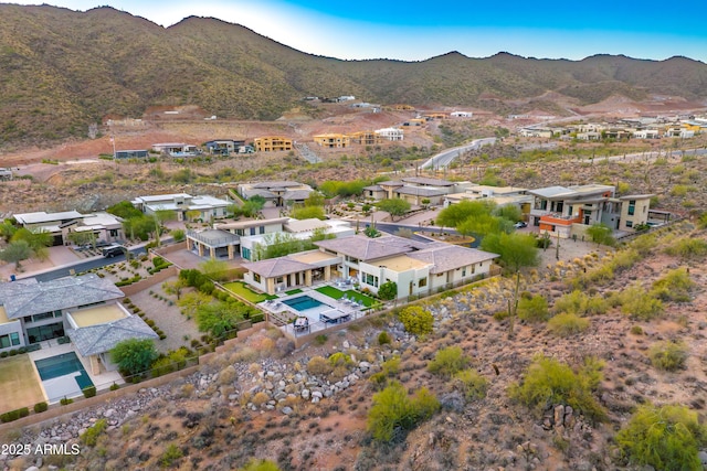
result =
[[[34,365],[50,402],[80,396],[84,387],[94,385],[74,352],[36,360]]]

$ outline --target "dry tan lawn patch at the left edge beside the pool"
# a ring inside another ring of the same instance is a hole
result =
[[[43,403],[44,393],[34,372],[30,355],[22,354],[0,360],[0,413]]]

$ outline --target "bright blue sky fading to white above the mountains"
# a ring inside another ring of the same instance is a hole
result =
[[[299,51],[344,60],[423,61],[450,51],[488,57],[581,60],[624,54],[707,63],[707,2],[592,0],[282,1],[49,0],[72,10],[109,4],[169,26],[189,15],[242,24]]]

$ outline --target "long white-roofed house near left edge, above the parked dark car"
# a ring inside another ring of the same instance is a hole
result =
[[[108,213],[81,214],[77,211],[61,213],[22,213],[13,215],[22,227],[32,232],[52,235],[52,245],[72,244],[71,233],[93,232],[95,242],[117,242],[125,239],[123,220]]]

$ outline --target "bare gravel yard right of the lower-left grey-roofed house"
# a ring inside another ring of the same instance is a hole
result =
[[[177,277],[169,278],[167,281],[173,281]],[[161,295],[167,299],[175,301],[173,306],[169,306],[168,302],[154,298],[150,291]],[[177,306],[177,298],[175,296],[167,295],[160,285],[156,285],[150,289],[140,291],[139,293],[131,296],[133,303],[140,308],[147,318],[155,321],[155,324],[160,328],[167,339],[158,340],[156,342],[157,350],[166,353],[169,350],[179,349],[182,345],[190,346],[191,339],[199,339],[201,333],[197,329],[197,323],[193,319],[187,320],[184,315],[179,312]],[[189,335],[189,339],[184,341],[184,335]]]

